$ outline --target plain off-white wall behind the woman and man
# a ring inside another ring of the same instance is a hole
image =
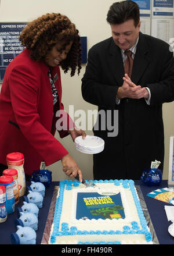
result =
[[[67,15],[75,23],[81,36],[87,36],[89,49],[96,42],[111,36],[110,26],[106,22],[106,16],[113,2],[114,0],[1,0],[0,22],[30,22],[45,13],[60,12],[63,15]],[[79,76],[76,74],[74,77],[70,77],[69,73],[64,74],[61,72],[63,87],[62,101],[67,112],[69,105],[74,105],[74,111],[84,109],[86,114],[88,109],[97,109],[96,106],[88,104],[82,99],[81,79],[84,72],[85,65],[82,66]],[[173,109],[174,102],[164,104],[165,162],[163,179],[168,179],[169,136],[174,135]],[[86,134],[92,134],[92,131],[86,130]],[[75,161],[77,161],[84,178],[93,179],[92,155],[75,151],[70,136],[60,139],[59,134],[56,133],[56,138],[60,140]],[[52,170],[53,180],[68,179],[61,170],[61,162],[54,163],[48,169]]]

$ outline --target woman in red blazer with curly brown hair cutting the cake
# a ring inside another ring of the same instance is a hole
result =
[[[54,137],[56,122],[62,118],[57,111],[64,109],[59,65],[64,73],[71,70],[71,76],[77,67],[78,74],[81,69],[78,30],[66,16],[52,13],[28,23],[19,40],[26,48],[6,69],[0,95],[1,171],[7,154],[22,152],[26,175],[39,169],[41,161],[48,166],[61,159],[66,175],[78,173],[81,180],[77,163]],[[57,127],[61,138],[68,134],[73,140],[85,138],[67,113],[63,117],[61,127],[67,128]]]

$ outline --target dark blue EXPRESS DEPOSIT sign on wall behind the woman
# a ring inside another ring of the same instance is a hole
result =
[[[27,23],[0,23],[0,81],[3,81],[6,67],[23,51],[19,35]]]

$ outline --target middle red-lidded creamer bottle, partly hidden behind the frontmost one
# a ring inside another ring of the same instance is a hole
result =
[[[17,182],[18,173],[16,169],[6,169],[3,170],[3,175],[13,177],[13,191],[14,191],[14,202],[15,204],[19,203],[19,186]]]

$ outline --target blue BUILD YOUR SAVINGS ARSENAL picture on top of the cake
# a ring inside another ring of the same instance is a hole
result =
[[[96,192],[77,193],[76,219],[125,218],[121,195],[100,195]]]

